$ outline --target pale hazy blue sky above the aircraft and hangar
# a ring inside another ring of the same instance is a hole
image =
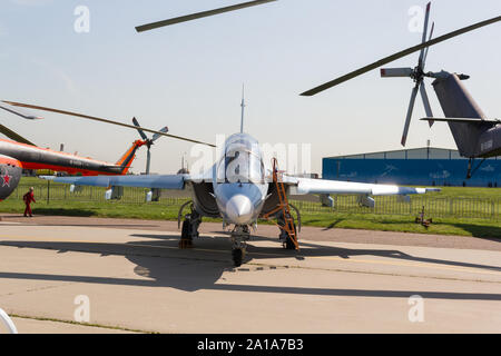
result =
[[[366,73],[316,97],[299,93],[392,52],[416,44],[409,9],[415,0],[277,2],[136,33],[135,26],[236,3],[227,0],[0,0],[0,98],[86,112],[174,135],[215,141],[239,129],[242,83],[246,131],[261,142],[312,144],[313,170],[326,156],[400,149],[413,83]],[[77,33],[78,6],[90,31]],[[499,0],[432,3],[435,34],[499,16]],[[501,116],[501,24],[431,48],[428,70],[464,72],[488,116]],[[414,67],[418,55],[391,67]],[[443,116],[428,81],[436,116]],[[115,161],[132,130],[45,113],[42,121],[1,122],[43,147]],[[445,125],[419,121],[407,147],[454,148]],[[163,138],[153,171],[173,172],[190,145]],[[136,171],[143,170],[140,151]]]

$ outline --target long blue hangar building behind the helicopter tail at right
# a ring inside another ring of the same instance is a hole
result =
[[[475,159],[477,167],[482,159]],[[466,179],[468,159],[458,150],[415,148],[395,151],[327,157],[322,177],[345,181],[416,186],[501,187],[501,157],[487,159]]]

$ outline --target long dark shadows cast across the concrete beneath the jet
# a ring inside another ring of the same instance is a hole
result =
[[[139,235],[134,237],[145,238],[145,240],[130,241],[126,244],[100,244],[100,243],[58,243],[58,241],[0,241],[0,246],[19,248],[52,249],[58,253],[78,251],[99,254],[101,256],[118,255],[124,256],[136,265],[135,273],[146,278],[116,278],[97,276],[69,276],[49,274],[26,274],[26,273],[2,273],[0,278],[12,279],[37,279],[76,281],[106,285],[126,285],[137,287],[170,287],[185,291],[196,291],[200,289],[226,290],[226,291],[255,291],[255,293],[284,293],[297,295],[320,295],[320,296],[357,296],[357,297],[387,297],[409,298],[412,295],[420,295],[423,298],[434,299],[470,299],[470,300],[501,300],[501,294],[478,294],[478,293],[442,293],[423,290],[365,290],[365,289],[338,289],[338,288],[305,288],[305,287],[283,287],[283,286],[255,286],[217,283],[222,279],[223,273],[245,273],[248,268],[232,268],[230,243],[225,237],[202,237],[195,240],[194,249],[179,249],[177,247],[179,236],[177,235]],[[276,240],[266,237],[255,237],[253,240]],[[252,244],[252,243],[250,243]],[[331,256],[350,259],[353,256],[376,256],[404,261],[416,261],[436,264],[442,266],[472,267],[485,270],[501,271],[500,267],[469,264],[452,260],[413,257],[399,250],[382,249],[350,249],[330,246],[318,246],[302,243],[299,253],[285,250],[277,243],[277,247],[248,246],[246,263],[268,264],[267,258],[308,258],[316,256]],[[269,267],[268,267],[269,268]],[[287,266],[272,267],[287,268]],[[263,267],[256,267],[259,271]],[[294,273],[292,270],[292,273]]]

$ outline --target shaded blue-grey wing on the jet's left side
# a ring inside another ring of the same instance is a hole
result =
[[[42,179],[71,184],[76,186],[95,187],[137,187],[160,189],[185,189],[185,182],[190,180],[189,175],[144,175],[144,176],[95,176],[95,177],[55,177],[40,176]]]

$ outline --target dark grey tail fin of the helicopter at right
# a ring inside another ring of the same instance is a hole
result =
[[[455,145],[463,157],[474,157],[480,136],[485,129],[485,115],[468,92],[458,75],[438,78],[433,82],[440,106],[446,118],[479,119],[477,122],[448,121]]]

